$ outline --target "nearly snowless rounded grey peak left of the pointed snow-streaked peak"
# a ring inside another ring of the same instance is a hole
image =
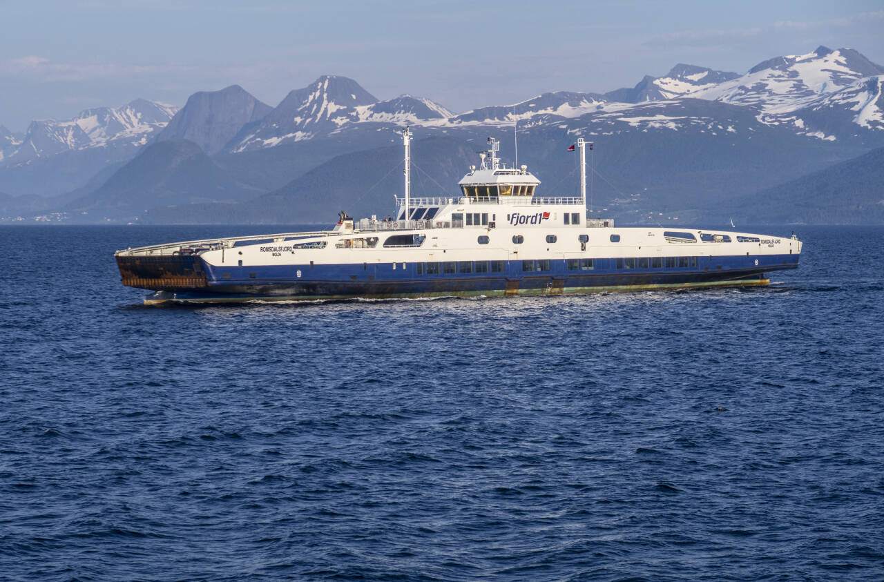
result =
[[[239,85],[200,91],[187,98],[156,140],[190,140],[205,153],[215,155],[244,125],[262,120],[272,110]]]

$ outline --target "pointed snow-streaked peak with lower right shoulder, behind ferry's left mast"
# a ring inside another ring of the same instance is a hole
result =
[[[325,75],[287,94],[260,124],[244,128],[228,149],[243,152],[310,140],[354,124],[415,124],[450,116],[437,103],[410,95],[378,102],[353,79]]]

